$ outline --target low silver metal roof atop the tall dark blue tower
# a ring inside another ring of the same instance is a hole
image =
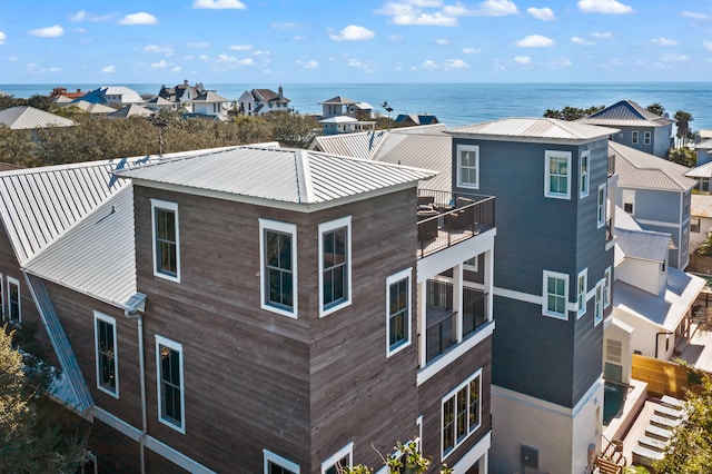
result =
[[[451,128],[446,132],[456,136],[476,136],[478,138],[582,141],[607,137],[617,131],[617,129],[552,118],[505,118]]]

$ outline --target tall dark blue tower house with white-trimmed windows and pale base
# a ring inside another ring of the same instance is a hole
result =
[[[617,130],[511,118],[448,132],[453,190],[496,196],[492,472],[584,472],[601,451]]]

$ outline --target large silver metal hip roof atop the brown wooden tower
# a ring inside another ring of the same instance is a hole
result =
[[[121,170],[120,177],[291,204],[318,204],[435,172],[303,149],[240,147]]]

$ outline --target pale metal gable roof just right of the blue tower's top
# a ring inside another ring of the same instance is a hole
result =
[[[615,155],[619,187],[686,191],[698,184],[685,176],[690,168],[664,158],[615,141],[609,141],[609,151]]]

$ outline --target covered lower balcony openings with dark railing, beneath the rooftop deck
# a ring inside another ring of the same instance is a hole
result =
[[[461,327],[464,340],[487,323],[487,294],[463,287],[461,318],[458,312],[453,310],[452,283],[429,279],[426,292],[426,363],[429,363],[457,344]]]

